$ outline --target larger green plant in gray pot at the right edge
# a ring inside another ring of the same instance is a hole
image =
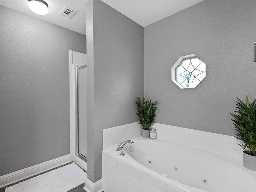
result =
[[[238,99],[236,109],[237,114],[230,114],[234,117],[235,138],[241,141],[238,145],[244,149],[243,164],[256,171],[256,100],[250,103],[246,95],[246,103]]]

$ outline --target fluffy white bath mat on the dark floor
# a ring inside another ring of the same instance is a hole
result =
[[[85,179],[86,172],[72,163],[10,186],[5,192],[67,192]]]

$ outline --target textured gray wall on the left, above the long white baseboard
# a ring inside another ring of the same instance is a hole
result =
[[[86,36],[0,6],[0,176],[70,154],[68,50]]]

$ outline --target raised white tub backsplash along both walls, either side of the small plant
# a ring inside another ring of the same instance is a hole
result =
[[[242,161],[243,149],[235,143],[240,140],[234,136],[193,130],[177,126],[155,123],[156,137],[182,146],[210,152],[220,156]],[[138,122],[103,130],[103,149],[118,145],[120,141],[132,140],[141,136]]]

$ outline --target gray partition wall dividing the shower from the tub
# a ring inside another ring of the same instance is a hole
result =
[[[144,94],[143,27],[100,0],[87,4],[87,178],[101,178],[102,130],[137,122]]]

